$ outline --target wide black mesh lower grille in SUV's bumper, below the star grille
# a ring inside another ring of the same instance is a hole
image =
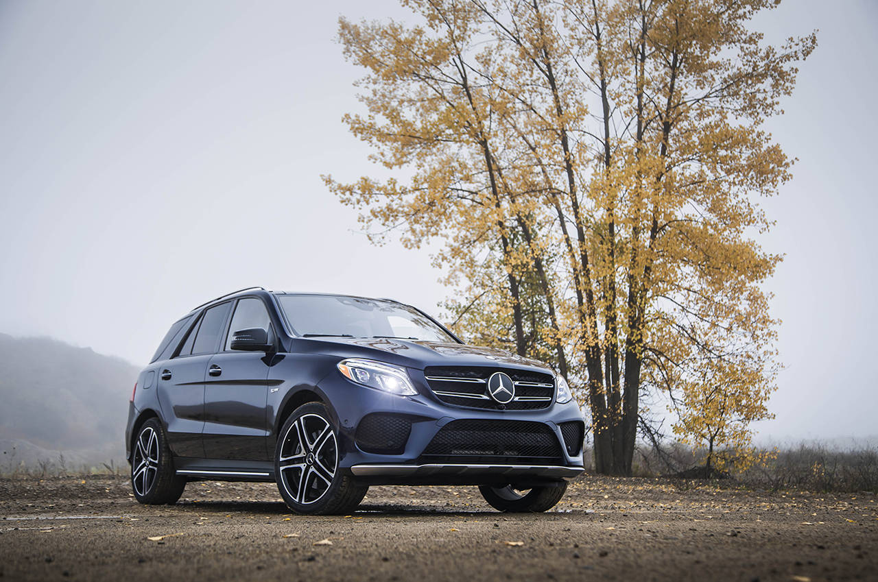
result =
[[[558,437],[542,422],[452,420],[421,456],[428,463],[553,464],[563,461]]]

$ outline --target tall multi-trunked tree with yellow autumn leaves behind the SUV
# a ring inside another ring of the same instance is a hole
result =
[[[345,120],[409,177],[326,180],[375,236],[445,241],[457,331],[554,363],[601,472],[630,474],[641,393],[748,390],[704,363],[765,399],[781,258],[753,237],[791,161],[762,125],[815,35],[766,46],[748,25],[772,0],[402,4],[420,24],[339,34],[366,70]]]

